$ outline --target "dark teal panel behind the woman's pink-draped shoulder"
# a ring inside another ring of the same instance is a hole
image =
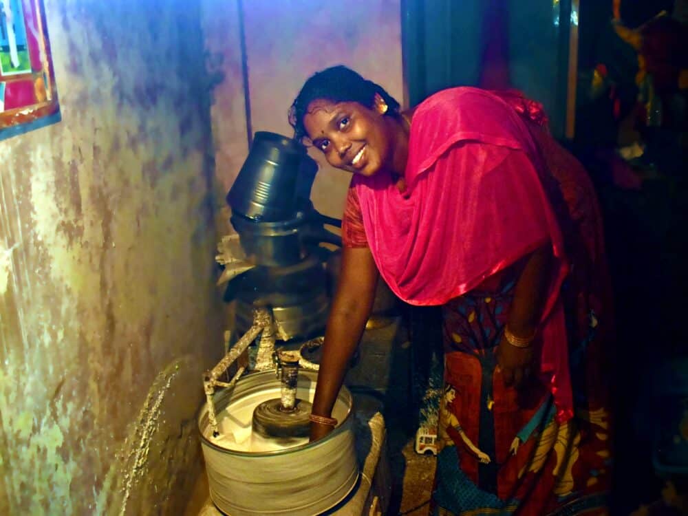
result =
[[[561,138],[572,23],[571,0],[402,1],[409,104],[451,86],[495,87],[506,77],[544,104]]]

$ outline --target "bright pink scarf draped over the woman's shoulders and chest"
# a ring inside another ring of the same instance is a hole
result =
[[[572,392],[559,290],[568,261],[524,118],[546,122],[541,106],[519,94],[443,90],[413,114],[406,190],[383,171],[356,175],[352,186],[380,275],[413,305],[442,305],[550,243],[556,266],[539,325],[541,375],[564,422]]]

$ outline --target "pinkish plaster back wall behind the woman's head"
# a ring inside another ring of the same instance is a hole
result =
[[[327,66],[350,66],[404,102],[400,0],[245,0],[242,10],[237,0],[205,0],[204,5],[208,13],[214,11],[204,25],[210,61],[225,76],[213,90],[212,120],[217,181],[226,191],[248,153],[240,24],[254,132],[291,136],[287,113],[294,97],[306,78]],[[321,153],[311,154],[320,164],[314,205],[341,217],[351,175],[333,169]]]

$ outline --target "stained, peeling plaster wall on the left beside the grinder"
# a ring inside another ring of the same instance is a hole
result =
[[[222,350],[200,7],[45,9],[63,121],[0,142],[0,514],[179,514]]]

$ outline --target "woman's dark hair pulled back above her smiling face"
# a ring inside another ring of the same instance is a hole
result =
[[[289,109],[289,123],[294,128],[294,138],[302,140],[306,136],[303,127],[303,117],[310,103],[316,99],[330,100],[334,103],[357,102],[365,107],[374,107],[375,94],[385,100],[387,104],[387,115],[398,116],[399,103],[388,94],[385,89],[366,80],[354,70],[343,65],[326,68],[321,72],[310,76],[305,81],[301,92],[294,99],[292,107]]]

